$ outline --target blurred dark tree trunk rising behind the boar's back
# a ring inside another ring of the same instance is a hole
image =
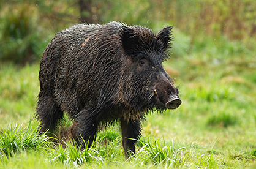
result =
[[[78,6],[80,10],[80,21],[81,23],[92,24],[95,13],[93,12],[93,0],[78,0]]]

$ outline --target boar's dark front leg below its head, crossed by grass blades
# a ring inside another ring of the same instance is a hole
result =
[[[121,119],[122,129],[122,146],[124,146],[124,154],[126,159],[135,153],[135,143],[141,136],[140,119],[135,121],[127,121]]]

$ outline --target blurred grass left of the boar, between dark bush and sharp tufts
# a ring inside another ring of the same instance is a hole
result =
[[[39,66],[15,67],[0,64],[0,128],[9,123],[28,122],[36,110]]]

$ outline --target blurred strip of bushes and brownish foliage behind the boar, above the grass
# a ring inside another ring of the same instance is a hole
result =
[[[55,32],[74,23],[104,24],[113,20],[148,26],[154,31],[175,26],[174,56],[201,47],[205,36],[216,42],[233,40],[243,44],[241,48],[254,50],[255,9],[254,0],[0,0],[0,59],[33,61],[42,56]],[[216,43],[216,47],[222,44]]]

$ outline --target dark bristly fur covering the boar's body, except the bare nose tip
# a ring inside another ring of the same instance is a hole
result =
[[[171,28],[154,34],[142,26],[111,22],[75,24],[58,32],[40,62],[40,133],[54,132],[65,111],[74,119],[67,135],[91,145],[99,124],[118,120],[126,157],[135,152],[136,141],[129,138],[140,137],[145,115],[164,111],[168,98],[178,97],[162,66]]]

